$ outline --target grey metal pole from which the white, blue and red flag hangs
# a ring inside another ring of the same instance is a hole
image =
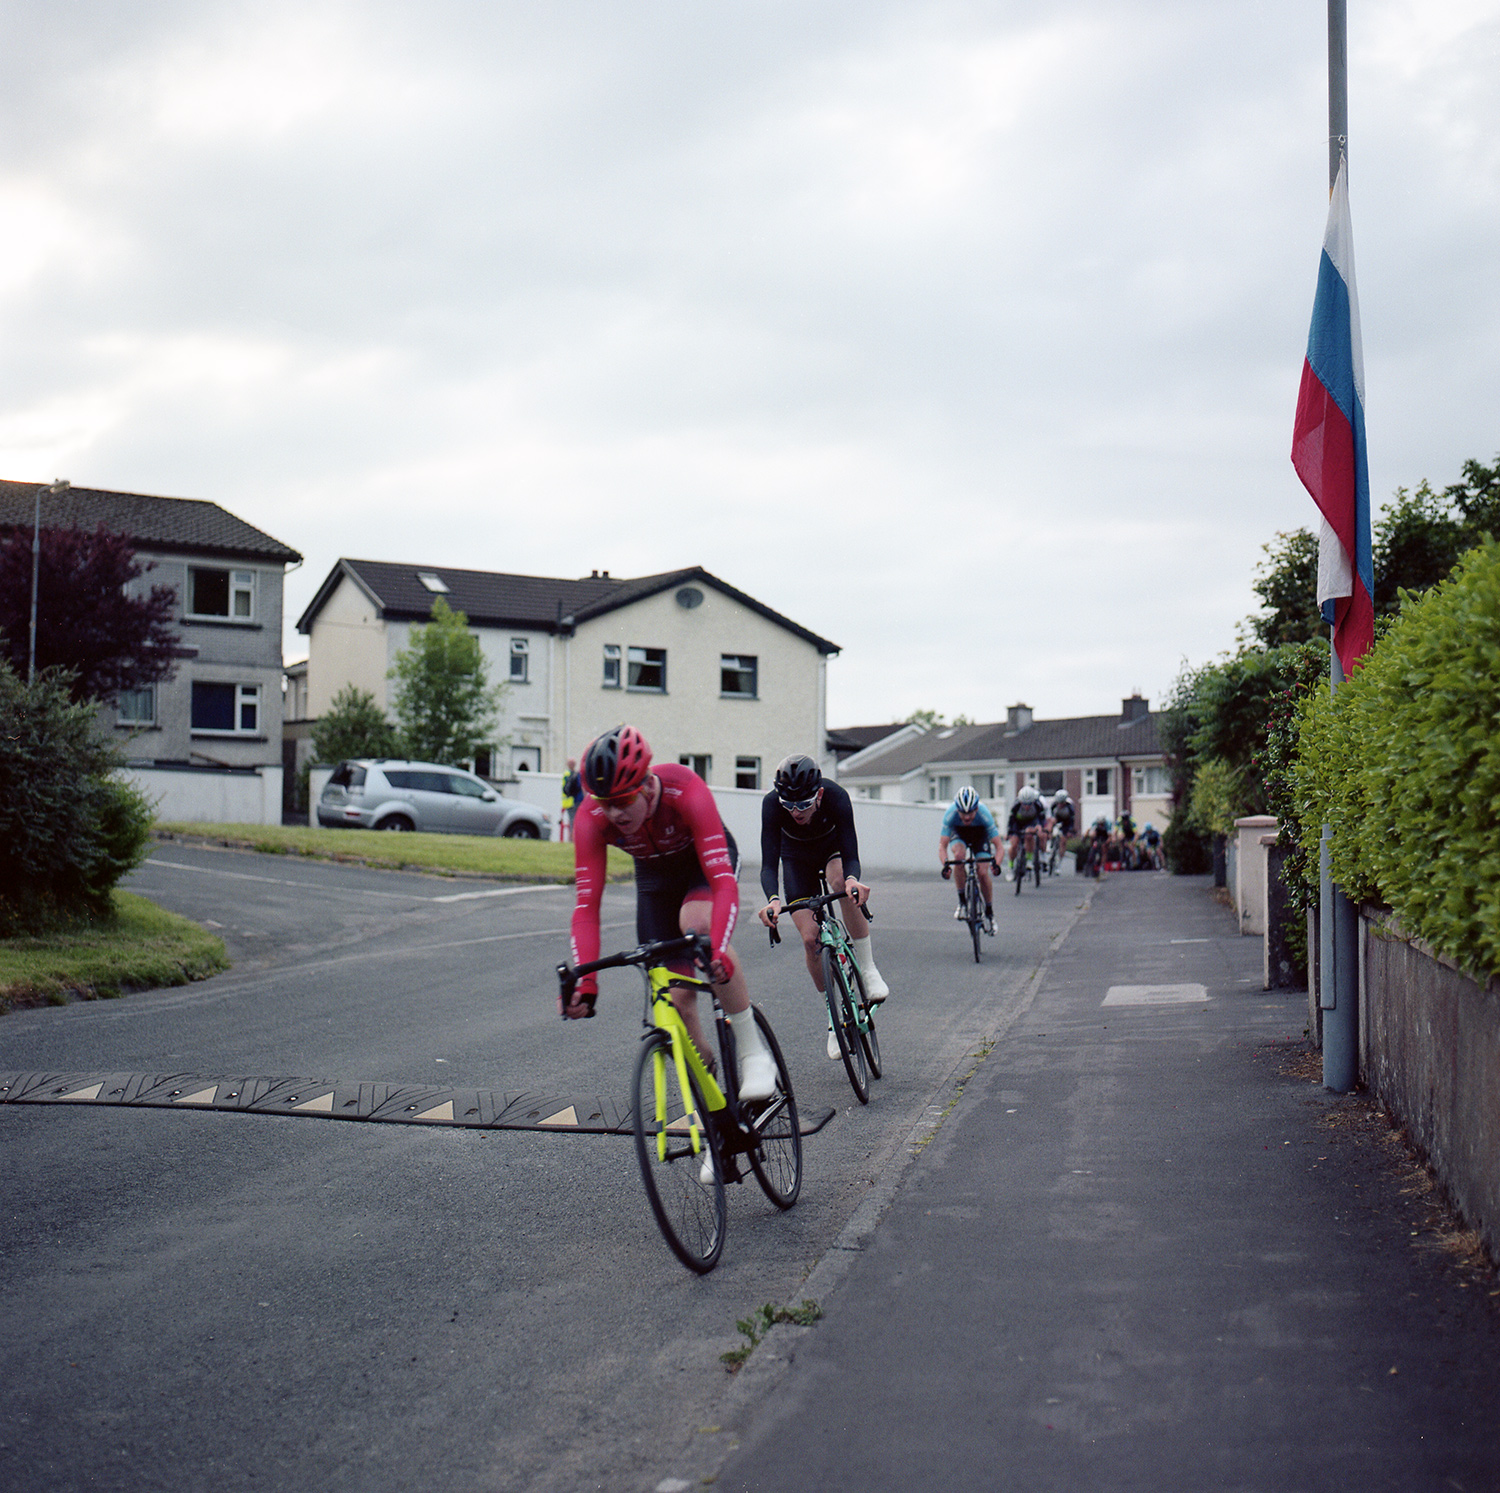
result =
[[[1346,0],[1328,0],[1328,189],[1348,150],[1348,48]],[[1328,687],[1338,693],[1344,669],[1328,630]],[[1329,828],[1318,855],[1318,1005],[1323,1010],[1323,1086],[1347,1094],[1359,1082],[1359,909],[1329,875]]]

